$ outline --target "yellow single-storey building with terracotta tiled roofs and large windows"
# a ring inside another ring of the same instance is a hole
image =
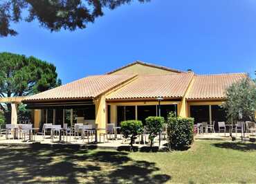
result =
[[[195,122],[225,120],[220,105],[225,90],[246,73],[196,75],[164,66],[134,62],[105,75],[93,75],[22,100],[34,109],[35,127],[53,123],[75,122],[105,128],[107,123],[120,125],[122,120],[142,120],[170,111],[193,117]]]

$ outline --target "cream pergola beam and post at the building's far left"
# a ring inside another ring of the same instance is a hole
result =
[[[6,97],[6,98],[0,98],[0,103],[10,103],[11,104],[11,123],[17,124],[17,112],[18,112],[18,104],[21,104],[22,100],[27,98],[28,96],[19,96],[19,97]]]

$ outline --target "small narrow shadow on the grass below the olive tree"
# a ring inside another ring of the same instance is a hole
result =
[[[226,148],[226,149],[235,149],[239,151],[255,151],[255,143],[244,143],[244,142],[219,142],[212,144],[215,147]]]

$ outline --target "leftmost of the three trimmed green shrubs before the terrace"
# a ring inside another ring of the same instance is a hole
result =
[[[125,138],[130,138],[131,150],[134,149],[133,144],[139,134],[143,132],[143,123],[138,120],[127,120],[121,122],[121,133]]]

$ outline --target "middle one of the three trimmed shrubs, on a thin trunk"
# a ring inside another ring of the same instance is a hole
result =
[[[145,119],[145,122],[145,129],[149,133],[150,150],[152,151],[154,138],[156,138],[156,136],[161,133],[165,118],[159,116],[149,116]]]

